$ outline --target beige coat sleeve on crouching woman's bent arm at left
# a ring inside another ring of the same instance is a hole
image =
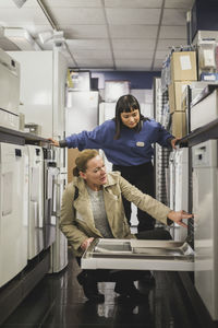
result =
[[[74,192],[74,186],[72,184],[68,185],[62,197],[59,227],[73,248],[77,250],[88,236],[76,226],[75,209],[73,207]]]

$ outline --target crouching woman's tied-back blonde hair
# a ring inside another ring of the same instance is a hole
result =
[[[95,149],[85,149],[83,150],[77,157],[75,159],[75,167],[73,168],[73,175],[80,176],[80,171],[86,172],[87,169],[87,162],[94,157],[96,157],[98,154],[98,151]]]

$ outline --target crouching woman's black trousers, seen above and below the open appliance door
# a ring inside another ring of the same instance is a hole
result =
[[[137,239],[171,239],[171,235],[168,231],[162,227],[155,229],[153,231],[144,231],[135,234]],[[77,263],[81,267],[81,257],[76,257]],[[116,282],[117,284],[122,284],[128,286],[133,282],[141,280],[145,271],[144,270],[107,270],[107,269],[96,269],[96,270],[83,270],[87,273],[88,279],[95,282]]]

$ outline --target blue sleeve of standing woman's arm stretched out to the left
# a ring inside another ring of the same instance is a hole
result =
[[[84,149],[101,149],[108,134],[109,127],[107,122],[96,127],[93,131],[82,131],[65,138],[68,148],[77,148],[80,151]]]

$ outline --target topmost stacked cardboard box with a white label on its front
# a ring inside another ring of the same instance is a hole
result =
[[[195,51],[172,52],[170,61],[171,81],[196,81],[196,54]]]

